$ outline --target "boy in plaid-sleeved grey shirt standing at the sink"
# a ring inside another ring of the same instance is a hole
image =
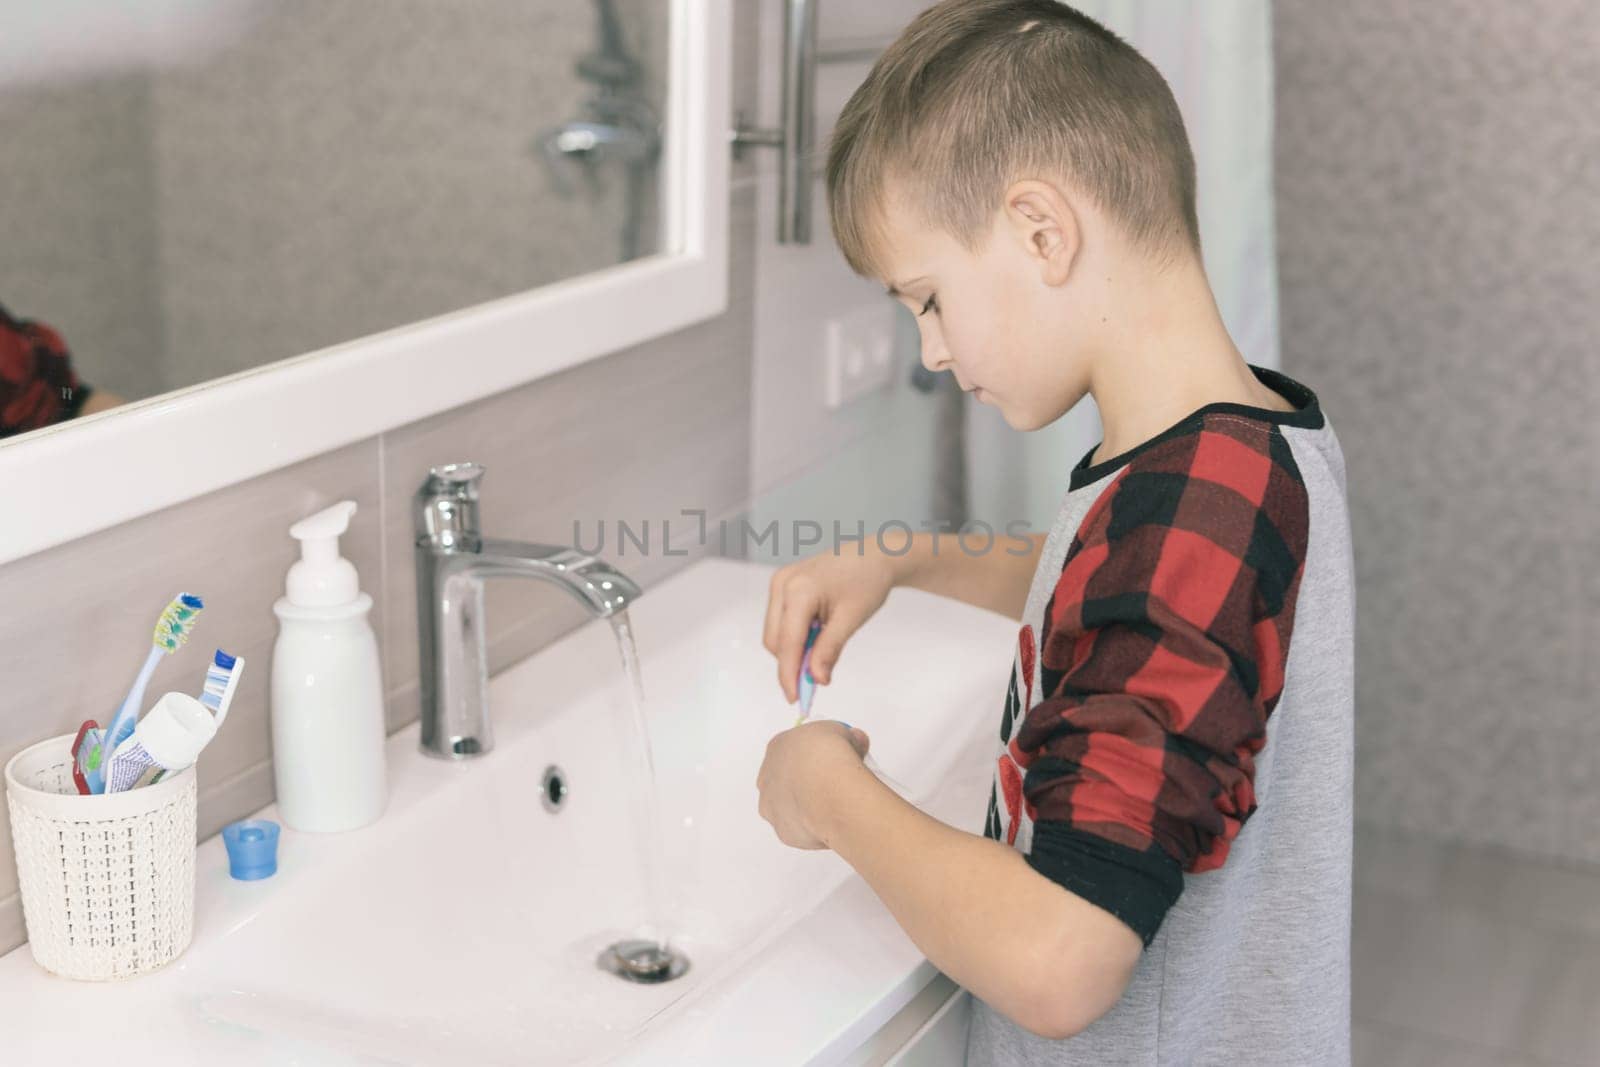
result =
[[[773,737],[762,817],[973,993],[970,1064],[1349,1064],[1344,458],[1315,394],[1229,339],[1171,91],[1058,0],[946,0],[845,107],[827,184],[928,368],[1019,430],[1093,394],[1104,438],[1027,557],[869,537],[771,582],[789,701],[810,621],[827,685],[894,585],[1021,619],[984,833],[835,721]]]

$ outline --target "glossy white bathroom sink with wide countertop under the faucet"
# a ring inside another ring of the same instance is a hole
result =
[[[285,827],[262,881],[229,877],[221,837],[202,843],[194,944],[162,971],[72,982],[26,945],[0,957],[0,1062],[61,1062],[88,1021],[114,1027],[118,1065],[842,1061],[936,973],[838,856],[757,814],[766,741],[794,723],[762,648],[770,576],[702,560],[630,611],[685,976],[597,966],[650,912],[632,709],[611,629],[590,622],[491,680],[490,755],[430,760],[414,723],[392,736],[371,827]],[[918,806],[978,833],[1013,635],[896,590],[813,712],[866,729]],[[554,813],[549,765],[568,789]]]

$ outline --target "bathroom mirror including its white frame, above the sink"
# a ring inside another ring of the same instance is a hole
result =
[[[13,5],[0,493],[61,507],[3,509],[0,561],[720,314],[728,21],[726,0]],[[43,373],[56,349],[78,389]],[[54,397],[18,400],[27,362]],[[216,459],[141,464],[208,426]]]

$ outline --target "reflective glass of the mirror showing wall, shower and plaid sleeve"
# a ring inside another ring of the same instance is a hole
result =
[[[670,251],[667,8],[11,5],[0,438]]]

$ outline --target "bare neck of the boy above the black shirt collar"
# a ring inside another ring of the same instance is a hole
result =
[[[1256,379],[1222,325],[1198,262],[1166,274],[1142,272],[1136,306],[1109,326],[1090,370],[1090,394],[1104,427],[1091,464],[1142,445],[1208,403],[1230,402],[1275,411],[1294,405]]]

